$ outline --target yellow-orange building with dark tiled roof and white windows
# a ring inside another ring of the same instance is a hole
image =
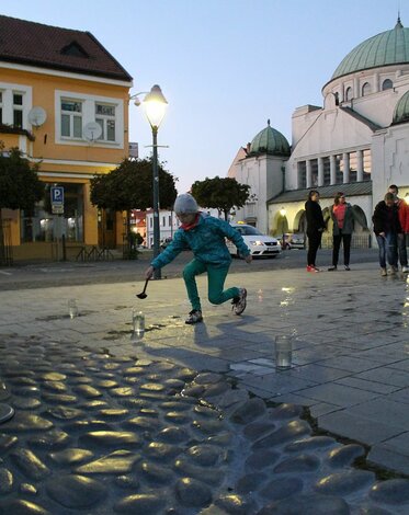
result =
[[[3,209],[13,259],[115,248],[122,217],[91,205],[90,179],[128,156],[132,77],[89,32],[0,16],[0,34],[3,151],[20,148],[47,191],[64,188],[64,213],[49,193],[34,214]]]

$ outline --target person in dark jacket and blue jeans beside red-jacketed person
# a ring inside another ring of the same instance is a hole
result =
[[[402,233],[402,228],[393,193],[388,192],[384,201],[376,205],[372,221],[379,248],[380,275],[387,275],[386,260],[390,266],[389,274],[395,275],[398,263],[398,234]]]

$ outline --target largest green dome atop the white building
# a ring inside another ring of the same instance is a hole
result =
[[[409,62],[409,28],[400,19],[391,31],[370,37],[344,57],[332,75],[332,79],[360,70]]]

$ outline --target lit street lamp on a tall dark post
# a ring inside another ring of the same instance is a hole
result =
[[[132,96],[134,98],[134,96]],[[140,102],[136,99],[135,104]],[[158,173],[158,129],[163,119],[168,102],[159,85],[155,84],[141,102],[150,127],[152,129],[152,175],[154,175],[154,259],[159,255],[160,229],[159,229],[159,173]],[[154,278],[160,279],[160,268],[155,268]]]

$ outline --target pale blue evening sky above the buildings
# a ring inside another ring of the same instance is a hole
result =
[[[393,28],[408,0],[19,0],[3,15],[91,32],[134,78],[169,102],[159,158],[180,193],[225,176],[240,146],[266,126],[291,144],[293,111],[322,105],[345,55]],[[150,127],[130,104],[129,139],[150,153]]]

